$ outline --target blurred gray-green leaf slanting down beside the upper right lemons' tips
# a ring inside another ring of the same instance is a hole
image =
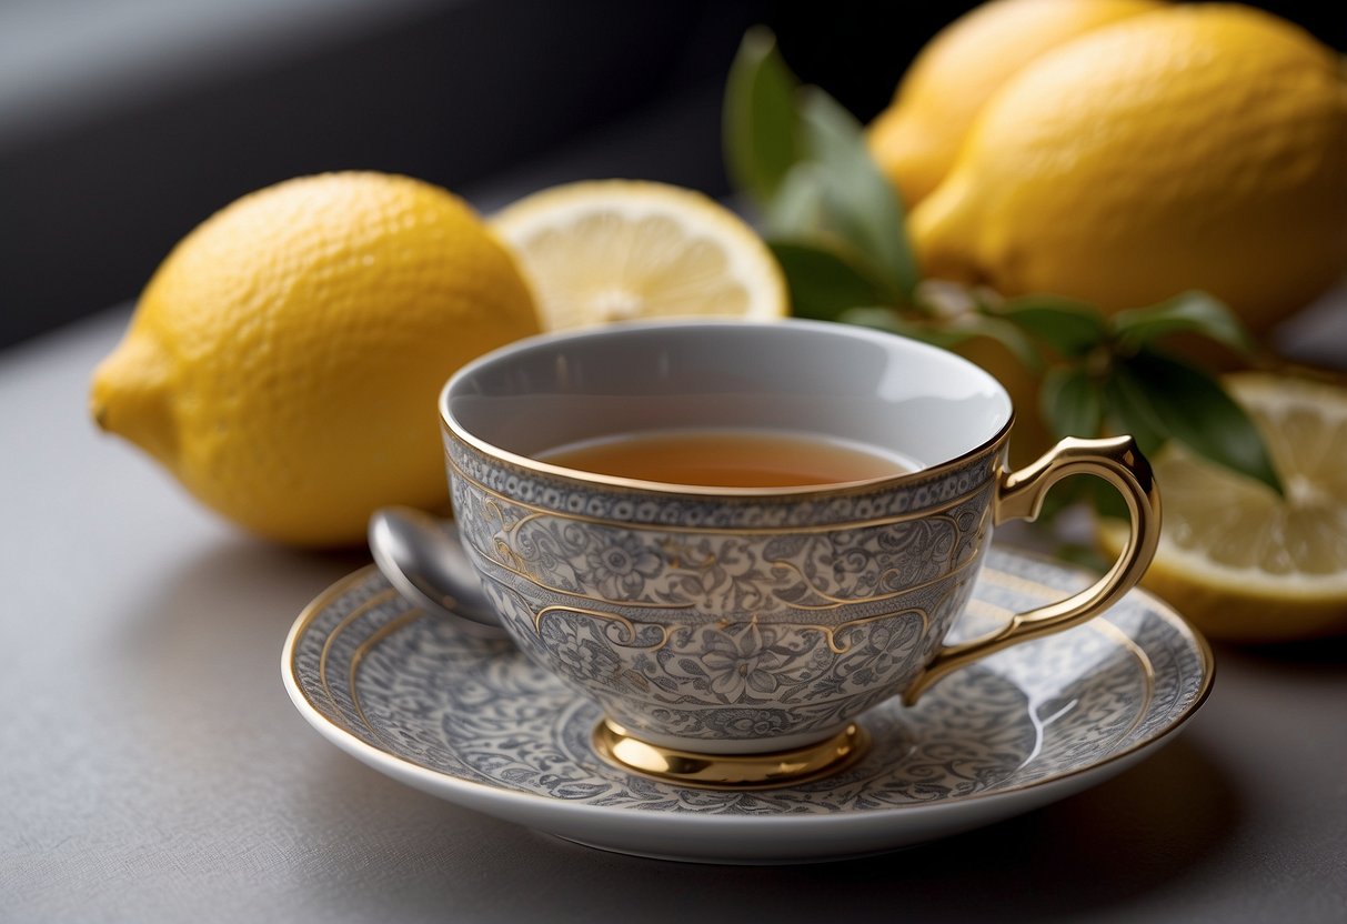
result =
[[[861,124],[818,88],[804,88],[800,100],[803,147],[822,168],[827,224],[866,256],[886,286],[911,300],[920,273],[902,206],[870,159]]]

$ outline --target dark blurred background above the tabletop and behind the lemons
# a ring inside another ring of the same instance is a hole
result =
[[[749,24],[869,120],[973,5],[0,0],[0,345],[133,299],[206,216],[300,174],[400,171],[482,207],[579,176],[723,195],[721,90]],[[1347,5],[1253,5],[1347,50]]]

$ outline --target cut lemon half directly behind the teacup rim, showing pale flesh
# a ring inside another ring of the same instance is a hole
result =
[[[788,314],[781,269],[757,233],[709,197],[638,180],[585,180],[492,218],[547,330],[637,318]]]

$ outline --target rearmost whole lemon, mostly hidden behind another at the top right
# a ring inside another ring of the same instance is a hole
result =
[[[987,98],[1063,42],[1160,7],[1158,0],[991,0],[943,28],[902,74],[866,140],[912,207],[950,171]]]

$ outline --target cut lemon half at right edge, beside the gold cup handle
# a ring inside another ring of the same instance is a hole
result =
[[[1347,389],[1272,373],[1226,383],[1286,496],[1168,446],[1152,459],[1164,525],[1142,585],[1214,638],[1347,632]],[[1113,551],[1125,536],[1117,521],[1100,528]]]

